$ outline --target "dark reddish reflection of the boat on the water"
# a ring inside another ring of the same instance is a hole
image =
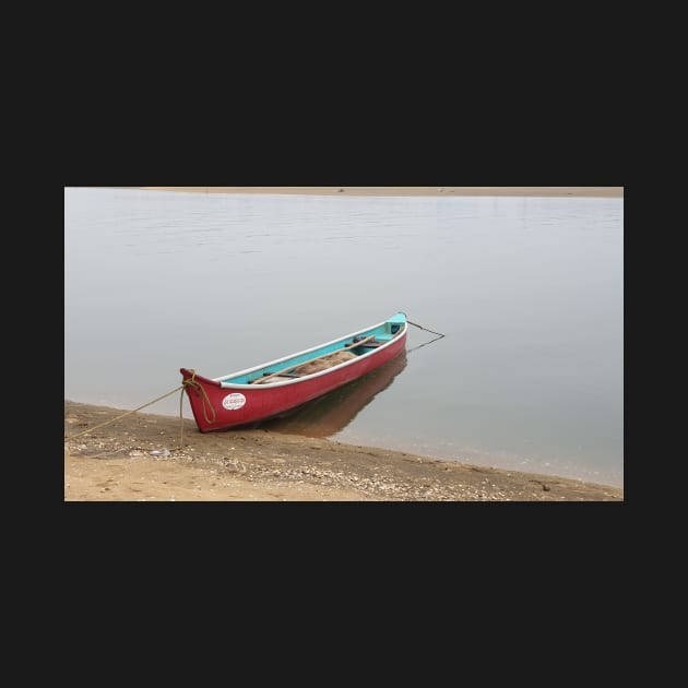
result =
[[[406,351],[339,390],[257,425],[264,430],[306,437],[330,437],[343,430],[406,367]]]

